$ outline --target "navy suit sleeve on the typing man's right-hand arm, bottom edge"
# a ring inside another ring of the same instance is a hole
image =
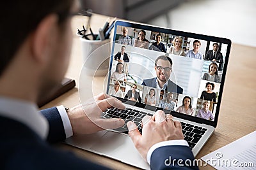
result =
[[[150,169],[198,169],[193,160],[195,158],[188,146],[163,146],[152,153]]]

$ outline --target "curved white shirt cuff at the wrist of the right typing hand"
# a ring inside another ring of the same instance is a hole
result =
[[[183,139],[179,139],[179,140],[163,141],[163,142],[156,143],[155,145],[151,146],[151,148],[148,150],[148,153],[147,153],[148,164],[150,164],[150,158],[154,150],[162,146],[173,146],[173,145],[188,146],[188,142]]]

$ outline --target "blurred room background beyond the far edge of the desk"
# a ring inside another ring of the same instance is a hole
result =
[[[94,13],[256,46],[256,0],[80,0]]]

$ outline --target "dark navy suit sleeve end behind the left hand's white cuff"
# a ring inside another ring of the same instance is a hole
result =
[[[66,139],[64,125],[60,113],[56,107],[40,111],[49,122],[49,134],[47,141],[54,143]]]

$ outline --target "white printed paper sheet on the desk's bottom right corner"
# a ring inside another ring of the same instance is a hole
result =
[[[216,169],[256,169],[256,131],[201,159]]]

